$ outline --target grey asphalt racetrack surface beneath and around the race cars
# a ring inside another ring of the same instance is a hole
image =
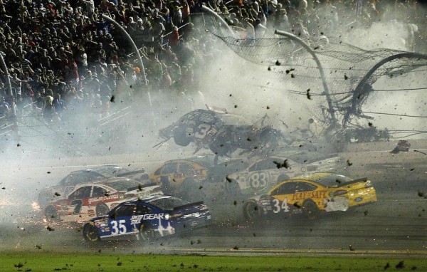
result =
[[[416,146],[416,145],[415,145]],[[390,147],[390,148],[389,148]],[[7,162],[1,169],[1,251],[104,252],[104,253],[194,253],[282,254],[364,253],[424,254],[427,246],[427,155],[423,146],[391,155],[391,142],[354,145],[340,154],[347,160],[350,177],[369,177],[378,201],[345,212],[325,214],[314,220],[259,219],[246,221],[243,201],[211,199],[207,203],[214,224],[152,244],[133,236],[88,244],[80,226],[43,222],[33,206],[38,188],[55,184],[74,169],[90,164],[143,165],[147,172],[162,161],[162,155],[115,155],[36,161]],[[20,165],[21,164],[21,165]],[[48,165],[48,167],[46,167]],[[344,170],[343,170],[344,171]],[[25,185],[25,186],[23,186]]]

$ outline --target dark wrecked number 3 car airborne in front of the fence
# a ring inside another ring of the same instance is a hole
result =
[[[258,122],[248,125],[239,115],[199,109],[186,113],[172,125],[160,130],[159,135],[164,142],[173,137],[176,145],[180,146],[194,142],[195,153],[201,148],[209,148],[218,156],[231,157],[238,149],[242,150],[241,153],[265,155],[283,138],[282,133],[273,126],[263,125],[267,118],[265,115]]]

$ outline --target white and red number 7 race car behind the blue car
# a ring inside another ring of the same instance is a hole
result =
[[[112,178],[80,184],[68,197],[50,202],[44,209],[47,221],[78,222],[106,214],[118,204],[139,197],[162,194],[157,184]]]

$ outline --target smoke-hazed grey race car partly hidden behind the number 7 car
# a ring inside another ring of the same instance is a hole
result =
[[[148,174],[144,169],[131,171],[117,165],[101,165],[70,172],[55,186],[44,188],[38,194],[38,205],[44,208],[53,199],[65,199],[78,184],[95,182],[112,177],[129,177],[137,182],[148,182]]]

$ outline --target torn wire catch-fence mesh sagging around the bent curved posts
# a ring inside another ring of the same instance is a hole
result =
[[[205,15],[204,20],[206,31],[220,38],[241,58],[266,66],[263,76],[279,80],[280,88],[306,105],[312,115],[324,123],[330,123],[331,109],[327,105],[327,92],[320,76],[320,68],[301,43],[279,35],[251,40],[236,38],[214,16]],[[298,38],[319,59],[329,89],[332,110],[338,125],[344,127],[353,118],[362,116],[362,105],[374,101],[376,91],[371,86],[376,80],[382,76],[404,75],[427,66],[427,55],[386,48],[367,51],[345,43],[340,38],[325,36],[315,39],[302,36]],[[376,70],[369,73],[374,67]],[[358,87],[361,82],[366,83]]]

